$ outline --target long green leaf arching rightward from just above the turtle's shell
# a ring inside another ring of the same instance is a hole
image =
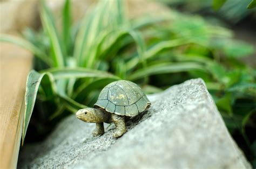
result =
[[[127,79],[134,81],[150,75],[187,72],[192,70],[198,70],[203,72],[206,71],[204,66],[196,64],[194,62],[166,63],[148,66],[146,69],[138,69],[136,72],[129,75]]]

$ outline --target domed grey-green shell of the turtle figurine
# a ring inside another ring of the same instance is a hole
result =
[[[100,91],[95,108],[121,116],[133,117],[150,108],[150,101],[135,83],[119,80],[109,83]]]

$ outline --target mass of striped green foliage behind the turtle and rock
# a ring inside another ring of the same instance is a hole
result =
[[[31,71],[27,81],[23,140],[36,97],[39,120],[31,123],[45,132],[50,126],[45,123],[92,107],[100,90],[114,80],[134,81],[151,94],[202,78],[227,128],[234,138],[241,138],[238,144],[255,165],[256,71],[240,60],[254,52],[252,45],[200,16],[176,11],[130,20],[118,0],[100,1],[75,26],[67,0],[62,30],[44,1],[41,7],[41,31],[26,30],[26,40],[0,37],[36,57],[38,72]]]

